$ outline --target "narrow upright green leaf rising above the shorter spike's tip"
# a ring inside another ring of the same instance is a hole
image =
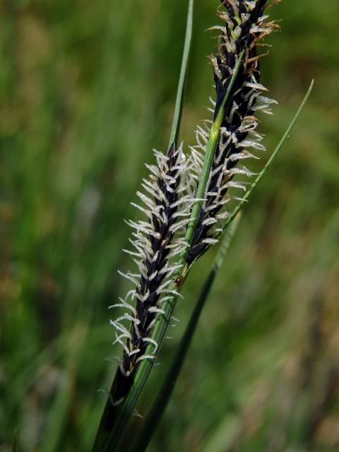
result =
[[[191,49],[192,30],[193,30],[193,8],[194,0],[189,0],[189,11],[187,12],[186,36],[184,42],[184,50],[182,53],[182,69],[180,70],[180,77],[177,89],[177,99],[175,101],[174,115],[172,121],[171,136],[169,138],[169,148],[172,143],[177,143],[180,122],[182,119],[182,105],[184,99],[184,87],[186,80],[187,65],[189,61],[189,52]]]

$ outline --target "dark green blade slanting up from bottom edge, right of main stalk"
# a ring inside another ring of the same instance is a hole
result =
[[[184,361],[186,359],[186,355],[191,345],[193,335],[196,331],[196,326],[198,325],[201,311],[205,306],[206,300],[208,299],[208,295],[210,294],[210,290],[215,281],[215,277],[218,273],[218,270],[220,270],[220,267],[222,266],[227,251],[230,248],[234,234],[237,230],[240,219],[239,215],[240,213],[237,215],[237,218],[234,219],[234,222],[232,222],[232,225],[225,234],[225,238],[222,240],[218,254],[215,257],[213,267],[211,268],[210,273],[205,280],[203,289],[201,290],[201,295],[198,298],[198,302],[196,302],[196,306],[194,307],[194,311],[191,314],[184,336],[180,341],[175,357],[172,361],[171,366],[169,367],[169,371],[167,372],[166,379],[162,384],[162,388],[160,389],[157,398],[155,399],[153,407],[143,424],[141,432],[139,433],[135,443],[133,444],[133,452],[143,452],[146,450],[150,439],[152,438],[155,429],[157,428],[157,425],[159,424],[162,415],[165,412],[167,403],[172,396],[174,386],[177,383],[182,365],[184,364]]]

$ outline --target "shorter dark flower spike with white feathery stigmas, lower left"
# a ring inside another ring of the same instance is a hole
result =
[[[134,288],[112,305],[124,309],[124,314],[111,321],[116,329],[115,343],[124,350],[119,360],[117,391],[114,403],[121,402],[136,374],[138,363],[154,359],[157,343],[150,339],[150,331],[157,315],[162,314],[161,303],[171,296],[169,284],[177,269],[174,256],[182,252],[184,232],[191,211],[191,184],[182,145],[171,146],[167,155],[154,151],[157,165],[146,165],[150,177],[143,179],[145,193],[138,191],[141,206],[133,206],[145,214],[147,221],[128,221],[133,228],[133,251],[126,251],[138,267],[138,273],[121,273]],[[175,236],[175,237],[174,237]],[[161,297],[161,300],[160,300]],[[130,327],[131,326],[131,327]],[[148,345],[154,346],[153,355],[146,355]]]

